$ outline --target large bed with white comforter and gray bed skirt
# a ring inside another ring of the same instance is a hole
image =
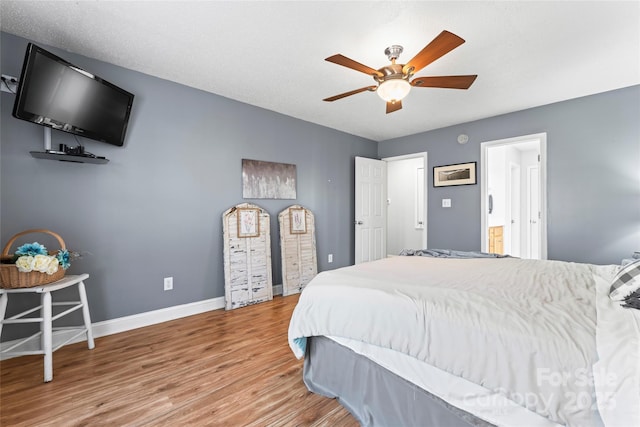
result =
[[[616,266],[398,256],[325,271],[289,345],[364,426],[640,425],[640,311]]]

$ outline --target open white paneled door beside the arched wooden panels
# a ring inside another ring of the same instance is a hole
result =
[[[385,257],[387,163],[356,157],[355,176],[355,262]]]

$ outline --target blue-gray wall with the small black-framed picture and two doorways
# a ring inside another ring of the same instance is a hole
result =
[[[433,166],[476,161],[480,179],[482,142],[546,132],[549,259],[617,264],[640,250],[639,118],[633,86],[384,141],[378,155],[427,151],[429,247],[479,250],[479,181],[434,188]]]

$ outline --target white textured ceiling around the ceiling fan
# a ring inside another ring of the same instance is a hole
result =
[[[2,0],[0,18],[38,43],[375,141],[640,84],[638,1]],[[413,88],[389,115],[375,93],[322,101],[374,84],[324,58],[380,68],[399,44],[404,63],[442,30],[466,43],[417,75],[478,74],[469,90]]]

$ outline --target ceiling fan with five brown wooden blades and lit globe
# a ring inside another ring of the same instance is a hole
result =
[[[365,91],[377,92],[387,102],[387,114],[389,114],[402,108],[402,99],[407,96],[412,86],[468,89],[478,77],[477,75],[416,77],[413,80],[411,79],[415,73],[451,52],[462,43],[464,43],[464,39],[449,31],[443,31],[406,64],[396,64],[396,60],[402,53],[402,46],[393,45],[384,51],[389,61],[391,61],[391,65],[377,70],[340,54],[330,56],[325,61],[368,74],[373,77],[377,84],[325,98],[323,101],[333,102]]]

